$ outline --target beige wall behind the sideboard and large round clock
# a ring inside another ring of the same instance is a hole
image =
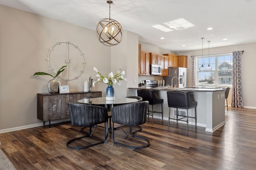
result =
[[[135,33],[124,31],[120,45],[107,47],[98,41],[95,30],[2,5],[0,21],[0,133],[4,129],[42,123],[37,119],[37,93],[47,93],[48,81],[52,78],[33,74],[49,72],[46,58],[49,48],[57,41],[78,45],[85,56],[84,73],[77,80],[61,81],[69,85],[70,92],[84,90],[84,81],[96,75],[94,66],[104,75],[119,67],[125,70],[128,83],[115,85],[117,96],[126,96],[126,84],[132,86],[130,82],[134,77],[138,79],[138,70],[133,72],[129,68],[129,73],[126,70],[131,65],[126,61],[128,56],[138,61],[138,35]],[[138,69],[138,63],[134,65]],[[102,91],[105,96],[106,84],[98,83],[92,90]]]

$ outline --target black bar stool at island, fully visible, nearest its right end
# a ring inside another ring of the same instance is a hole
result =
[[[176,120],[178,121],[185,121],[182,120],[184,118],[186,118],[186,122],[187,122],[187,130],[188,130],[188,109],[190,108],[195,108],[195,116],[194,117],[190,117],[190,118],[194,118],[195,119],[195,125],[196,125],[196,106],[197,106],[197,102],[192,101],[192,99],[190,98],[189,92],[185,92],[182,90],[172,90],[172,91],[167,91],[167,101],[168,101],[168,107],[169,107],[169,119],[168,119],[168,126],[170,126],[170,110],[171,107],[176,108]],[[178,115],[178,108],[180,109],[187,109],[186,115]],[[178,117],[181,117],[180,119],[178,119]]]

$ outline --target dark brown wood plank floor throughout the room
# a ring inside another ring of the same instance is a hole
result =
[[[203,127],[151,118],[137,135],[150,140],[143,149],[129,149],[112,142],[87,149],[68,149],[66,142],[81,135],[70,122],[0,134],[0,149],[17,169],[210,169],[256,168],[256,109],[229,107],[226,125],[214,133]],[[126,128],[126,131],[128,128]],[[98,127],[92,141],[103,135]],[[116,140],[125,136],[116,130]],[[128,137],[129,144],[140,145]]]

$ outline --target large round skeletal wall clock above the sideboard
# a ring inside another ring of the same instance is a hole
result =
[[[66,69],[58,76],[58,79],[71,81],[78,79],[84,72],[85,60],[84,53],[74,45],[67,42],[57,42],[48,52],[48,66],[54,74],[58,68],[67,65]]]

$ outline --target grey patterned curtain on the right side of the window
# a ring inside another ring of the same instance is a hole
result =
[[[242,98],[242,74],[241,74],[242,51],[233,51],[233,81],[232,81],[232,107],[244,107]]]

